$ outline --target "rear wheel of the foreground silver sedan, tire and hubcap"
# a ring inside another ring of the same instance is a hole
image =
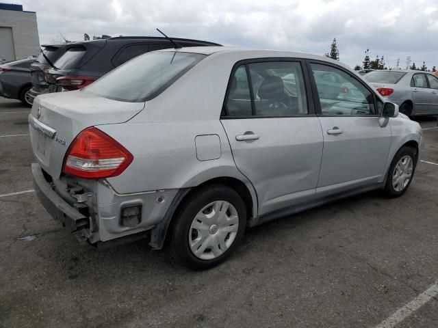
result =
[[[195,191],[172,220],[170,253],[186,267],[205,270],[226,260],[242,241],[246,207],[224,185]]]

